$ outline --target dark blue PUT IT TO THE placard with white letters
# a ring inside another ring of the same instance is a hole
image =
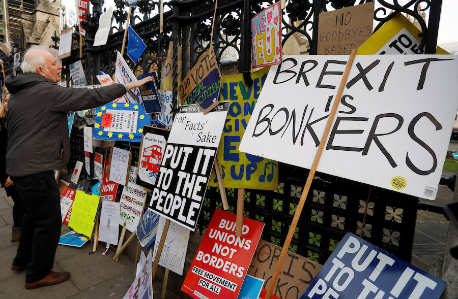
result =
[[[300,299],[437,299],[445,285],[347,232]]]

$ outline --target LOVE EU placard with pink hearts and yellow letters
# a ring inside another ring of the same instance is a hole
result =
[[[281,8],[277,2],[251,19],[251,67],[281,62]]]

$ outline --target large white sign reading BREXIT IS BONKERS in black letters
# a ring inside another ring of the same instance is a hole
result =
[[[271,67],[239,149],[310,169],[347,60],[288,56]],[[317,171],[434,200],[457,80],[451,55],[356,56]]]

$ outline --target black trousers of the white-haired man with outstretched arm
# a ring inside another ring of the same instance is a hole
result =
[[[61,235],[59,188],[52,171],[11,177],[24,209],[15,265],[27,265],[25,282],[35,282],[51,272]]]

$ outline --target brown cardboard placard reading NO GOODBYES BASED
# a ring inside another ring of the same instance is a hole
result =
[[[324,12],[318,19],[318,54],[350,55],[371,35],[374,2]]]

